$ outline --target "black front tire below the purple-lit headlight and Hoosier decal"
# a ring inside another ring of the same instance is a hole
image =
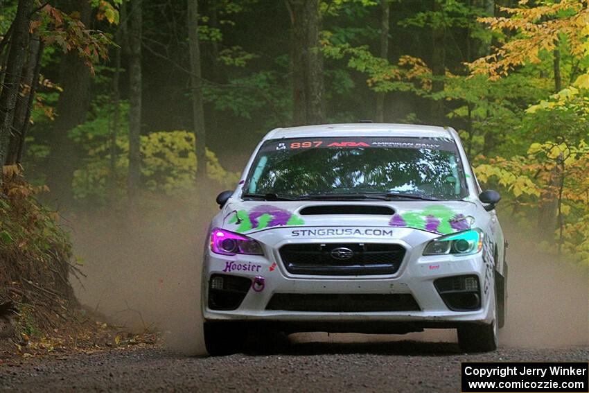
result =
[[[227,322],[205,322],[204,346],[211,356],[231,355],[243,349],[245,333],[241,326]]]

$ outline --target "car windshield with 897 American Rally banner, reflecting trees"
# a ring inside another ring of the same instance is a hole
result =
[[[297,138],[263,144],[243,193],[386,193],[459,200],[466,186],[452,139]]]

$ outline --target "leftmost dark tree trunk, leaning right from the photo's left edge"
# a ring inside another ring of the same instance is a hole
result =
[[[33,0],[19,1],[14,30],[12,31],[6,76],[0,93],[0,169],[8,155],[12,121],[15,116],[21,73],[26,59],[29,15],[32,7]],[[2,171],[0,171],[0,184],[1,182]]]

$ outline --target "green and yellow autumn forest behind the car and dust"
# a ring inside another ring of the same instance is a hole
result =
[[[452,126],[501,211],[589,263],[587,1],[0,0],[0,37],[0,213],[42,202],[5,251],[213,200],[272,128],[372,119]]]

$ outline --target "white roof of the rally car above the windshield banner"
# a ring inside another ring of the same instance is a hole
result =
[[[305,137],[443,137],[453,138],[450,128],[434,125],[394,123],[344,123],[302,125],[300,127],[275,128],[263,140]]]

